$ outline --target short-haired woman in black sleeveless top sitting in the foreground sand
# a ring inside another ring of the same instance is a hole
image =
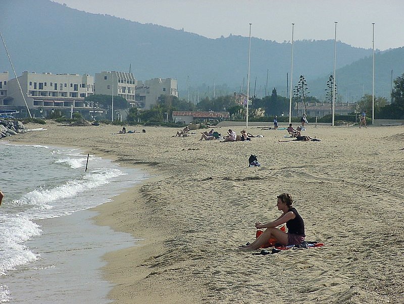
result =
[[[254,242],[249,245],[240,247],[240,249],[254,250],[259,249],[266,244],[270,238],[276,238],[277,242],[282,245],[300,245],[305,240],[305,223],[297,210],[292,207],[293,199],[289,193],[282,193],[277,196],[278,202],[276,206],[282,211],[282,215],[272,222],[262,224],[256,223],[257,229],[267,228]],[[276,228],[286,223],[288,232]]]

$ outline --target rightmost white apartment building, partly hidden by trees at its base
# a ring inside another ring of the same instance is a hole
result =
[[[143,110],[150,110],[151,106],[156,105],[160,95],[178,97],[177,79],[173,78],[153,78],[150,80],[137,81],[136,84],[136,102]]]

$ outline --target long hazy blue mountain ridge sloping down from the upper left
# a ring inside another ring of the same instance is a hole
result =
[[[49,0],[1,0],[0,4],[6,12],[0,20],[0,30],[17,75],[26,70],[78,74],[128,72],[131,66],[131,72],[139,80],[176,78],[181,95],[186,94],[188,76],[190,93],[198,91],[201,97],[212,95],[214,82],[218,92],[219,88],[226,91],[223,93],[246,91],[248,37],[207,38],[161,25],[87,13]],[[297,83],[299,75],[305,75],[312,94],[321,97],[324,88],[317,82],[333,71],[334,40],[297,40],[293,47],[293,83],[288,83],[289,87]],[[381,53],[386,52],[389,51]],[[7,70],[10,65],[1,54],[0,67]],[[372,49],[337,41],[337,71],[371,54]],[[286,95],[290,55],[290,43],[252,37],[250,91],[254,85],[257,95],[264,94],[269,70],[267,94],[277,87],[278,93]],[[350,72],[354,77],[357,73]],[[349,87],[347,90],[358,91]],[[350,91],[341,95],[353,97]]]

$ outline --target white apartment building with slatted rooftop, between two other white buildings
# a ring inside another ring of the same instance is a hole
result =
[[[104,71],[95,73],[95,94],[121,96],[135,103],[136,79],[133,73]]]

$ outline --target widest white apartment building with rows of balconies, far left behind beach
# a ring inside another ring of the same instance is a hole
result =
[[[43,115],[50,110],[66,112],[73,108],[88,108],[84,97],[94,92],[94,77],[88,74],[52,74],[23,72],[18,77],[27,106],[40,110]],[[13,99],[9,106],[25,107],[17,78],[8,82],[8,96]],[[65,110],[65,111],[63,111]]]

